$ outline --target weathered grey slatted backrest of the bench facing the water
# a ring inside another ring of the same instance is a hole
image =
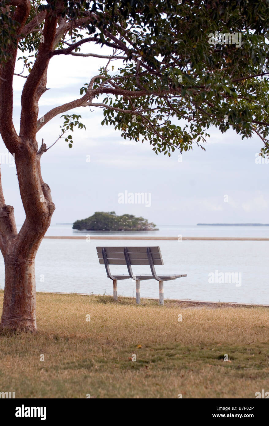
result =
[[[124,249],[126,249],[131,265],[149,265],[147,248],[144,247],[97,247],[100,265],[104,265],[102,249],[105,248],[109,265],[126,265]],[[154,265],[163,265],[160,247],[149,247]]]

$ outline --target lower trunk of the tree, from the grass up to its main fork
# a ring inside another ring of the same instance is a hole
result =
[[[0,190],[0,248],[5,262],[5,291],[0,331],[36,331],[34,261],[49,228],[55,206],[49,186],[43,182],[38,153],[24,152],[15,158],[26,220],[17,233],[13,207],[4,204]]]

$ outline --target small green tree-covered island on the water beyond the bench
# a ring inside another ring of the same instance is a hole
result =
[[[87,219],[77,220],[73,229],[79,231],[158,231],[156,225],[131,214],[117,216],[115,212],[95,212]]]

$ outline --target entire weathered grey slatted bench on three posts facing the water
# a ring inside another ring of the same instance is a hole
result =
[[[163,305],[163,281],[181,278],[186,274],[157,275],[155,265],[163,265],[160,247],[97,247],[100,265],[105,265],[108,278],[113,279],[113,296],[117,300],[117,280],[132,278],[136,287],[136,302],[140,304],[140,281],[156,279],[159,281],[160,305]],[[112,275],[109,265],[126,265],[128,274]],[[132,265],[149,265],[151,274],[137,275],[132,271]]]

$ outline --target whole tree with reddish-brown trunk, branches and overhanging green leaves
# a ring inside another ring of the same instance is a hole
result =
[[[64,117],[60,137],[83,128],[77,107],[103,109],[103,124],[123,138],[149,141],[156,154],[190,150],[214,124],[262,140],[269,153],[269,0],[3,0],[0,2],[0,134],[14,155],[26,219],[17,233],[0,189],[0,249],[5,262],[1,329],[36,330],[34,259],[54,212],[37,132]],[[92,43],[110,55],[90,52]],[[87,46],[86,53],[81,52]],[[25,78],[20,130],[12,121],[18,57]],[[55,55],[106,60],[80,96],[38,116]],[[117,69],[112,61],[120,61]],[[100,99],[103,97],[103,99]],[[39,139],[40,140],[40,139]],[[72,136],[66,137],[72,147]],[[201,146],[201,145],[200,145]],[[204,147],[201,146],[203,149]]]

